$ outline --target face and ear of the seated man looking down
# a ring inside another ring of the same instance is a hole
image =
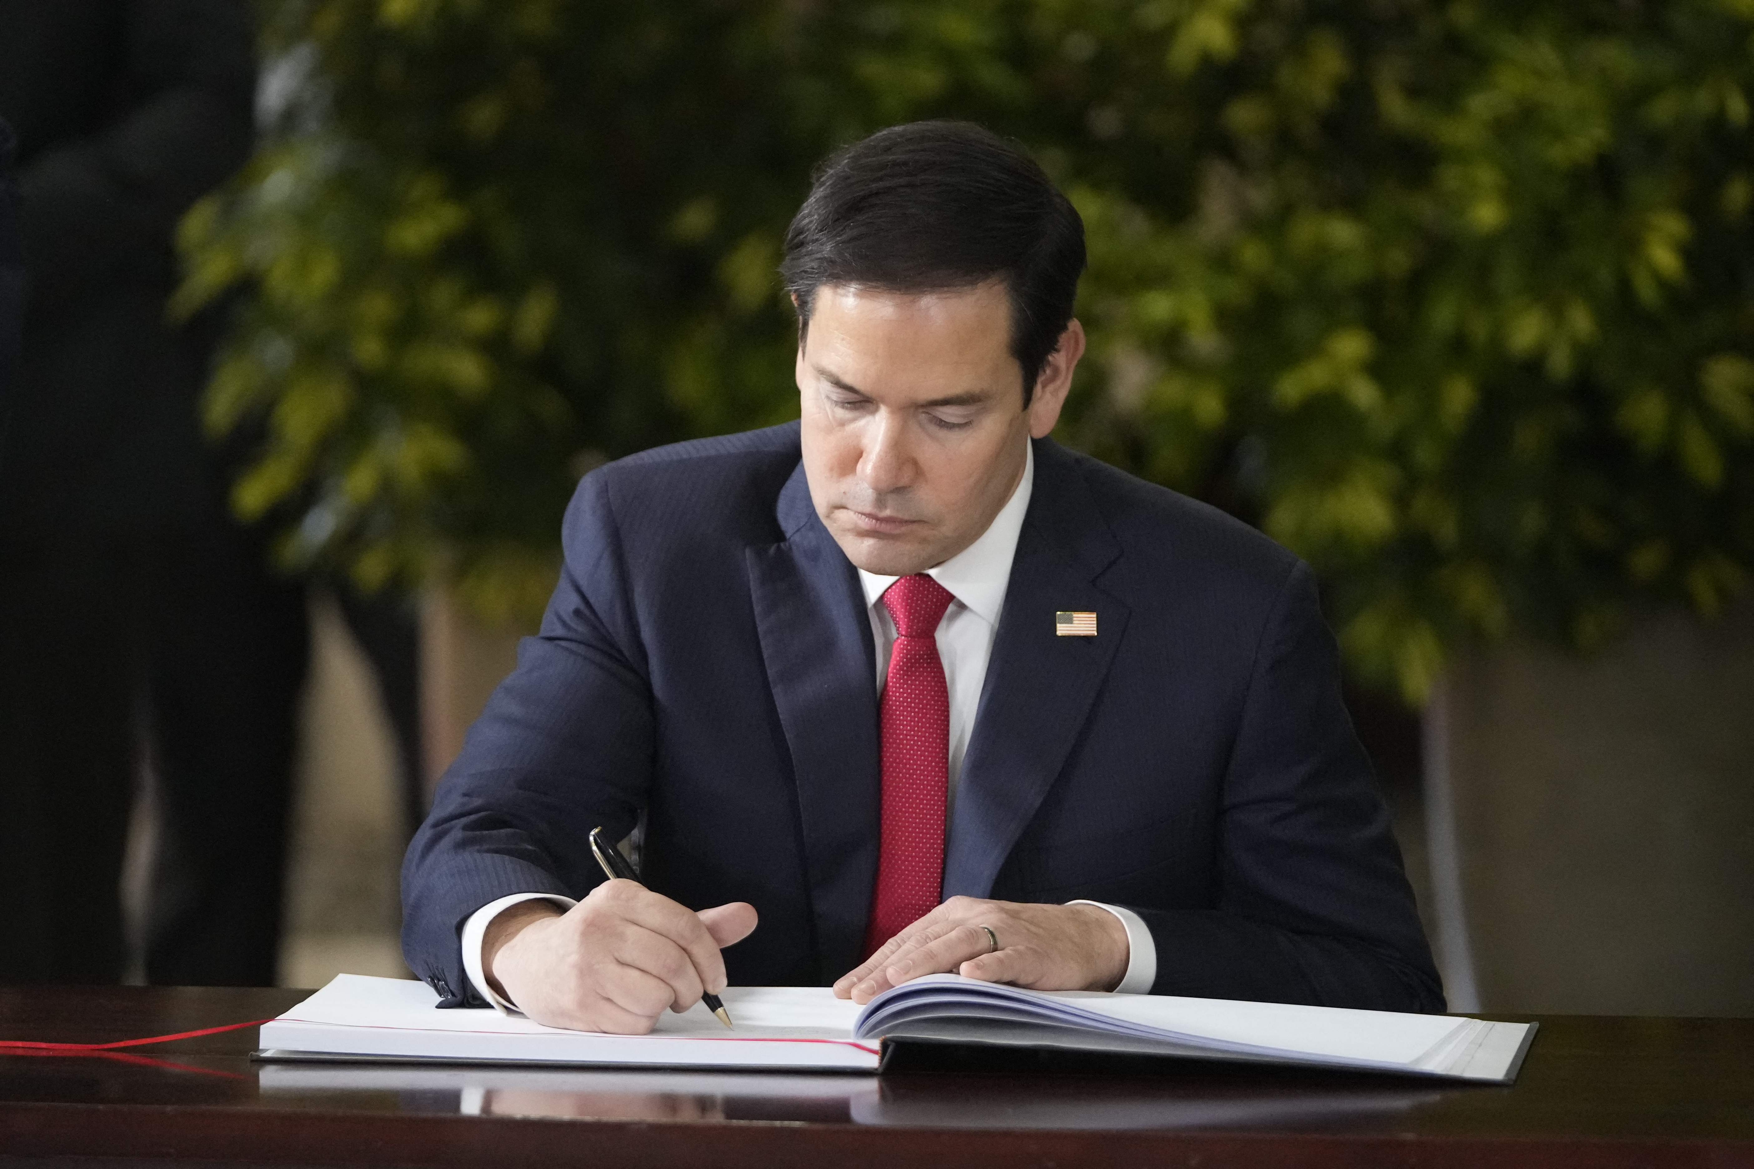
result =
[[[905,577],[973,543],[1023,477],[1030,436],[1059,419],[1082,352],[1073,321],[1024,408],[1002,284],[817,289],[798,347],[803,473],[847,559]]]

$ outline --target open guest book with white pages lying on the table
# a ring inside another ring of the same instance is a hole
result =
[[[826,987],[730,987],[735,1031],[705,1006],[649,1036],[544,1027],[491,1010],[435,1010],[426,983],[340,974],[261,1025],[268,1060],[453,1060],[563,1066],[879,1071],[900,1039],[1386,1071],[1510,1083],[1535,1024],[1330,1006],[1040,992],[958,974],[886,990],[863,1008]]]

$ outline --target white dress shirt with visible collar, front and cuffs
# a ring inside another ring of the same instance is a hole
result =
[[[1010,499],[1000,508],[980,538],[966,549],[944,561],[937,568],[928,568],[926,575],[944,585],[954,601],[938,622],[938,659],[944,662],[944,682],[951,694],[951,741],[949,741],[949,792],[945,792],[945,829],[956,815],[956,789],[961,782],[963,755],[968,754],[968,736],[973,733],[975,712],[980,710],[980,687],[986,684],[988,659],[993,657],[993,638],[998,636],[998,619],[1005,610],[1005,589],[1010,585],[1010,563],[1017,554],[1017,536],[1023,531],[1023,517],[1030,510],[1030,494],[1035,489],[1035,450],[1028,449],[1023,464],[1023,478],[1010,492]],[[881,598],[884,589],[895,584],[896,577],[879,577],[859,570],[859,584],[865,589],[866,617],[872,622],[872,638],[877,645],[877,692],[882,694],[889,675],[889,650],[895,645],[895,619],[884,608]],[[577,904],[570,897],[553,894],[512,894],[491,901],[475,910],[463,924],[463,967],[468,980],[475,983],[488,1003],[505,1011],[510,1004],[488,985],[482,973],[482,939],[488,924],[507,908],[521,901],[545,899],[563,910]],[[1072,901],[1070,904],[1094,904],[1121,918],[1126,927],[1128,962],[1121,985],[1126,994],[1145,994],[1158,978],[1158,946],[1151,931],[1131,910],[1102,904],[1100,901]],[[516,1008],[512,1008],[516,1010]]]

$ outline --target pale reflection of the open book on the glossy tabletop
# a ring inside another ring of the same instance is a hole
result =
[[[470,1116],[556,1120],[903,1125],[926,1129],[1344,1129],[1444,1097],[1442,1090],[1359,1078],[1342,1087],[1244,1078],[916,1074],[747,1074],[707,1071],[577,1071],[265,1064],[265,1099],[393,1094],[396,1108]]]

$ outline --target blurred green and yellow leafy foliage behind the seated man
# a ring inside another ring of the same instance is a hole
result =
[[[1028,145],[1086,217],[1059,436],[1305,556],[1352,666],[1594,647],[1754,566],[1754,0],[272,0],[305,84],[184,224],[291,564],[540,610],[602,457],[796,414],[833,147]]]

